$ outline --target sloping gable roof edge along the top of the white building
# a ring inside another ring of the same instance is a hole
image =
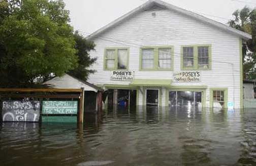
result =
[[[232,28],[232,27],[230,27],[228,25],[225,25],[225,24],[222,24],[220,22],[214,21],[212,19],[209,19],[209,18],[207,18],[205,16],[202,16],[202,15],[199,15],[197,13],[194,13],[194,12],[191,12],[191,11],[188,11],[188,10],[176,7],[174,5],[165,3],[165,2],[160,1],[160,0],[149,0],[148,2],[146,2],[146,3],[142,4],[141,6],[135,8],[131,12],[126,13],[125,15],[119,17],[118,19],[114,20],[113,22],[111,22],[111,23],[107,24],[106,26],[100,28],[99,30],[93,32],[91,35],[87,36],[86,39],[92,40],[96,36],[102,34],[107,29],[109,29],[109,28],[119,24],[121,21],[123,21],[123,20],[125,20],[127,18],[130,18],[133,15],[135,15],[135,14],[137,14],[137,13],[143,11],[143,10],[149,9],[150,7],[152,7],[154,5],[156,5],[158,7],[165,8],[165,9],[173,10],[173,11],[176,11],[178,13],[184,14],[186,16],[192,17],[194,19],[200,20],[200,21],[202,21],[204,23],[207,23],[209,25],[212,25],[212,26],[215,26],[215,27],[220,28],[222,30],[225,30],[227,32],[230,32],[233,35],[239,36],[240,38],[242,38],[244,40],[249,40],[249,39],[252,38],[251,35],[247,34],[246,32],[243,32],[241,30],[237,30],[237,29]]]

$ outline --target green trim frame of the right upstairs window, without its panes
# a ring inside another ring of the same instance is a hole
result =
[[[183,65],[183,48],[193,48],[193,67],[184,67]],[[198,58],[198,49],[199,47],[208,47],[208,68],[200,68],[198,63],[199,63],[199,58]],[[180,56],[180,68],[181,70],[211,70],[212,64],[211,64],[211,59],[212,59],[212,51],[211,51],[211,44],[202,44],[202,45],[182,45],[181,46],[181,56]]]

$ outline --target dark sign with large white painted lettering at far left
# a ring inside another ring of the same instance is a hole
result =
[[[4,101],[3,121],[38,122],[40,116],[39,101]]]

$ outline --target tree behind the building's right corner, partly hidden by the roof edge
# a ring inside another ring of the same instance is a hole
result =
[[[256,9],[244,7],[233,13],[234,19],[228,23],[231,27],[252,35],[252,39],[243,43],[243,76],[246,79],[256,79]]]

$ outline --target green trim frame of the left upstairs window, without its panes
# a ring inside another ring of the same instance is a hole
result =
[[[127,50],[127,61],[126,61],[126,69],[118,69],[118,50]],[[114,50],[114,67],[107,68],[107,51]],[[129,60],[130,60],[130,48],[129,47],[108,47],[104,50],[104,62],[103,62],[103,69],[106,71],[113,71],[113,70],[122,70],[127,71],[129,70]]]

